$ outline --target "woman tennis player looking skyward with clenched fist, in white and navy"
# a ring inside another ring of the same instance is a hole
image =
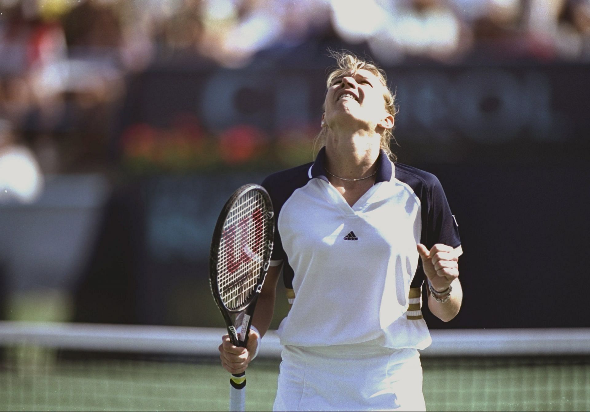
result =
[[[276,237],[247,348],[224,336],[223,367],[255,357],[282,271],[291,303],[274,410],[425,410],[417,349],[428,308],[461,306],[461,242],[438,179],[395,162],[394,96],[375,64],[335,54],[313,163],[268,176]]]

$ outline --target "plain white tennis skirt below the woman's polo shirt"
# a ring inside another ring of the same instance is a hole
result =
[[[284,346],[274,411],[424,411],[416,349]]]

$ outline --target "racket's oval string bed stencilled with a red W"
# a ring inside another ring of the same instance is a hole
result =
[[[249,191],[231,208],[219,245],[218,287],[228,309],[238,309],[254,293],[267,239],[266,202]]]

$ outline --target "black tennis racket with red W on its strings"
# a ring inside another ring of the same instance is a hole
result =
[[[273,236],[273,204],[267,191],[254,184],[237,189],[219,214],[209,255],[211,292],[235,346],[248,343],[254,307],[270,264]],[[245,372],[232,374],[230,411],[244,410],[245,386]]]

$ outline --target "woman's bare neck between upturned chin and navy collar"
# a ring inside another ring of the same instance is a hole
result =
[[[353,133],[329,133],[326,139],[326,169],[345,179],[371,175],[378,167],[381,136]]]

